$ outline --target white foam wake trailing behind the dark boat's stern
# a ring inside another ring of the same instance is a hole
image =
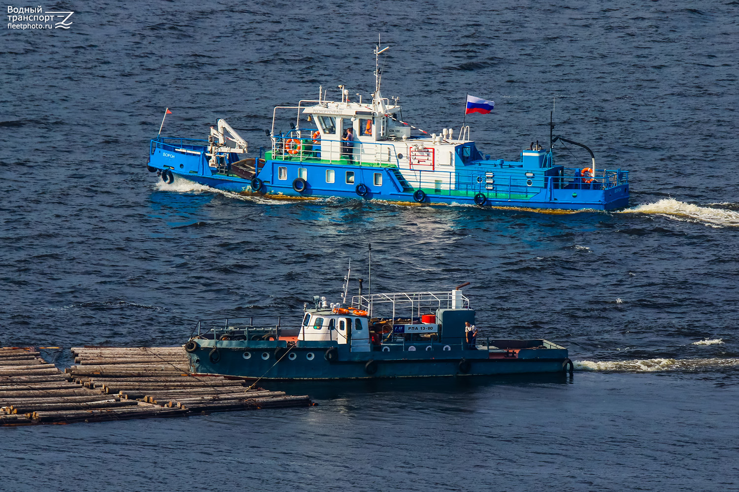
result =
[[[574,361],[575,370],[617,373],[698,371],[739,366],[739,358],[648,358],[636,361]]]

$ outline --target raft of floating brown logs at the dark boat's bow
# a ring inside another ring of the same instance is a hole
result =
[[[183,347],[72,347],[64,373],[33,347],[0,347],[0,426],[310,406],[308,396],[192,375]]]

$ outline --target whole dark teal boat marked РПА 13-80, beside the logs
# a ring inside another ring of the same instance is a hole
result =
[[[265,379],[396,378],[560,373],[568,350],[542,339],[478,337],[460,290],[358,295],[351,307],[315,298],[289,316],[210,319],[185,344],[193,373]]]

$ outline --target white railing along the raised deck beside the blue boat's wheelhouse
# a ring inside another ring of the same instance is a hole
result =
[[[272,136],[272,159],[285,159],[295,162],[321,162],[330,164],[346,163],[348,148],[341,139],[313,139],[315,128],[296,128],[287,133]],[[299,143],[290,142],[297,140]],[[329,144],[324,147],[325,144]],[[332,145],[336,144],[336,145]],[[338,153],[337,153],[338,150]],[[393,142],[354,141],[351,150],[353,162],[373,166],[400,167],[398,151]],[[337,157],[338,156],[338,157]]]

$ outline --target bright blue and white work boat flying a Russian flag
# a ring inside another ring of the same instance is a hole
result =
[[[375,49],[378,56],[384,50]],[[402,121],[398,98],[375,92],[369,103],[317,100],[277,106],[269,131],[270,146],[245,157],[247,142],[218,120],[208,140],[157,136],[149,148],[149,171],[164,181],[187,179],[208,187],[277,199],[345,197],[406,204],[477,204],[528,209],[598,209],[627,207],[628,171],[599,169],[586,145],[553,136],[550,148],[531,142],[518,159],[491,159],[470,138],[469,125],[428,134]],[[278,117],[290,111],[291,129],[278,131]],[[413,130],[415,131],[415,135]],[[347,140],[347,134],[351,132]],[[579,145],[590,153],[587,167],[556,165],[556,142]]]

